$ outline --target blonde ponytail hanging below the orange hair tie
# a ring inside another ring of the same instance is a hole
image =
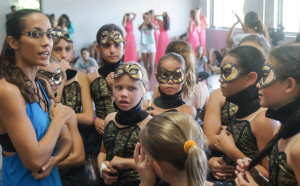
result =
[[[205,185],[207,158],[205,152],[198,146],[192,145],[188,148],[185,170],[187,185]]]

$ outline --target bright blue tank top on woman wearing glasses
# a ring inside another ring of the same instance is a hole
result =
[[[46,97],[46,101],[49,103],[49,99],[44,92],[40,82],[39,86],[42,89],[43,94]],[[48,107],[49,110],[49,107]],[[37,141],[39,141],[46,133],[48,126],[50,124],[49,111],[44,112],[39,104],[35,101],[34,103],[26,102],[26,113],[30,119],[32,126],[36,133]],[[22,139],[19,139],[22,140]],[[2,154],[3,155],[3,154]],[[58,168],[54,166],[51,173],[45,179],[34,179],[31,175],[31,171],[28,170],[22,163],[17,152],[9,157],[2,158],[2,176],[1,185],[61,185]]]

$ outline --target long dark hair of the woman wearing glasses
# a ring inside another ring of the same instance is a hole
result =
[[[25,27],[24,18],[31,13],[41,12],[36,9],[21,9],[11,14],[6,21],[6,38],[11,36],[16,40],[19,40],[20,34]],[[22,96],[25,98],[25,101],[33,103],[35,102],[34,92],[30,88],[32,81],[21,68],[15,66],[14,54],[14,49],[10,47],[5,39],[0,54],[0,78],[4,77],[7,82],[17,86]],[[46,82],[38,76],[36,76],[35,79],[39,80],[43,88],[48,92]]]

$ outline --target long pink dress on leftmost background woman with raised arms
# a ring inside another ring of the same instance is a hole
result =
[[[125,48],[125,53],[124,53],[124,62],[128,62],[131,60],[137,62],[135,37],[133,34],[132,22],[130,21],[126,22],[125,30],[127,32],[125,37],[125,42],[127,43],[127,46]]]

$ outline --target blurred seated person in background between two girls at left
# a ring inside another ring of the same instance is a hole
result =
[[[89,56],[87,48],[80,50],[81,57],[76,61],[74,69],[83,73],[89,73],[99,68],[97,61]]]

